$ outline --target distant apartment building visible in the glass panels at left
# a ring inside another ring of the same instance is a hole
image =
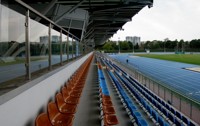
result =
[[[49,41],[49,36],[40,36],[40,43],[47,45]],[[51,42],[57,43],[60,41],[60,36],[52,35],[51,36]]]

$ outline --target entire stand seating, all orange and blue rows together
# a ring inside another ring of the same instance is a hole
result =
[[[36,126],[72,126],[74,114],[87,78],[92,56],[73,74],[55,96],[55,102],[47,105],[47,113],[41,113],[35,120]],[[172,107],[162,98],[155,95],[137,80],[128,75],[126,71],[114,64],[107,57],[96,54],[98,103],[101,126],[121,126],[117,104],[113,103],[110,94],[113,87],[120,99],[123,109],[134,126],[197,126],[194,121]],[[107,77],[106,77],[107,76]],[[81,106],[79,106],[81,107]],[[88,106],[92,107],[92,106]],[[81,108],[84,109],[84,108]],[[86,116],[86,115],[82,115]],[[83,124],[84,125],[84,124]],[[91,124],[93,125],[93,124]]]

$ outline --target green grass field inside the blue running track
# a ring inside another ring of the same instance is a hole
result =
[[[200,54],[135,54],[136,56],[200,65]]]

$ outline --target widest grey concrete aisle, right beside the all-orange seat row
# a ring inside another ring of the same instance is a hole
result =
[[[73,126],[100,126],[97,66],[93,59],[78,104]]]

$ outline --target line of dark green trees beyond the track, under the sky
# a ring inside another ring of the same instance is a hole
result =
[[[119,41],[114,42],[108,40],[104,45],[97,47],[98,50],[105,52],[144,52],[147,49],[151,52],[199,52],[200,39],[193,39],[191,41],[184,40],[153,40],[136,43],[133,46],[132,42]]]

